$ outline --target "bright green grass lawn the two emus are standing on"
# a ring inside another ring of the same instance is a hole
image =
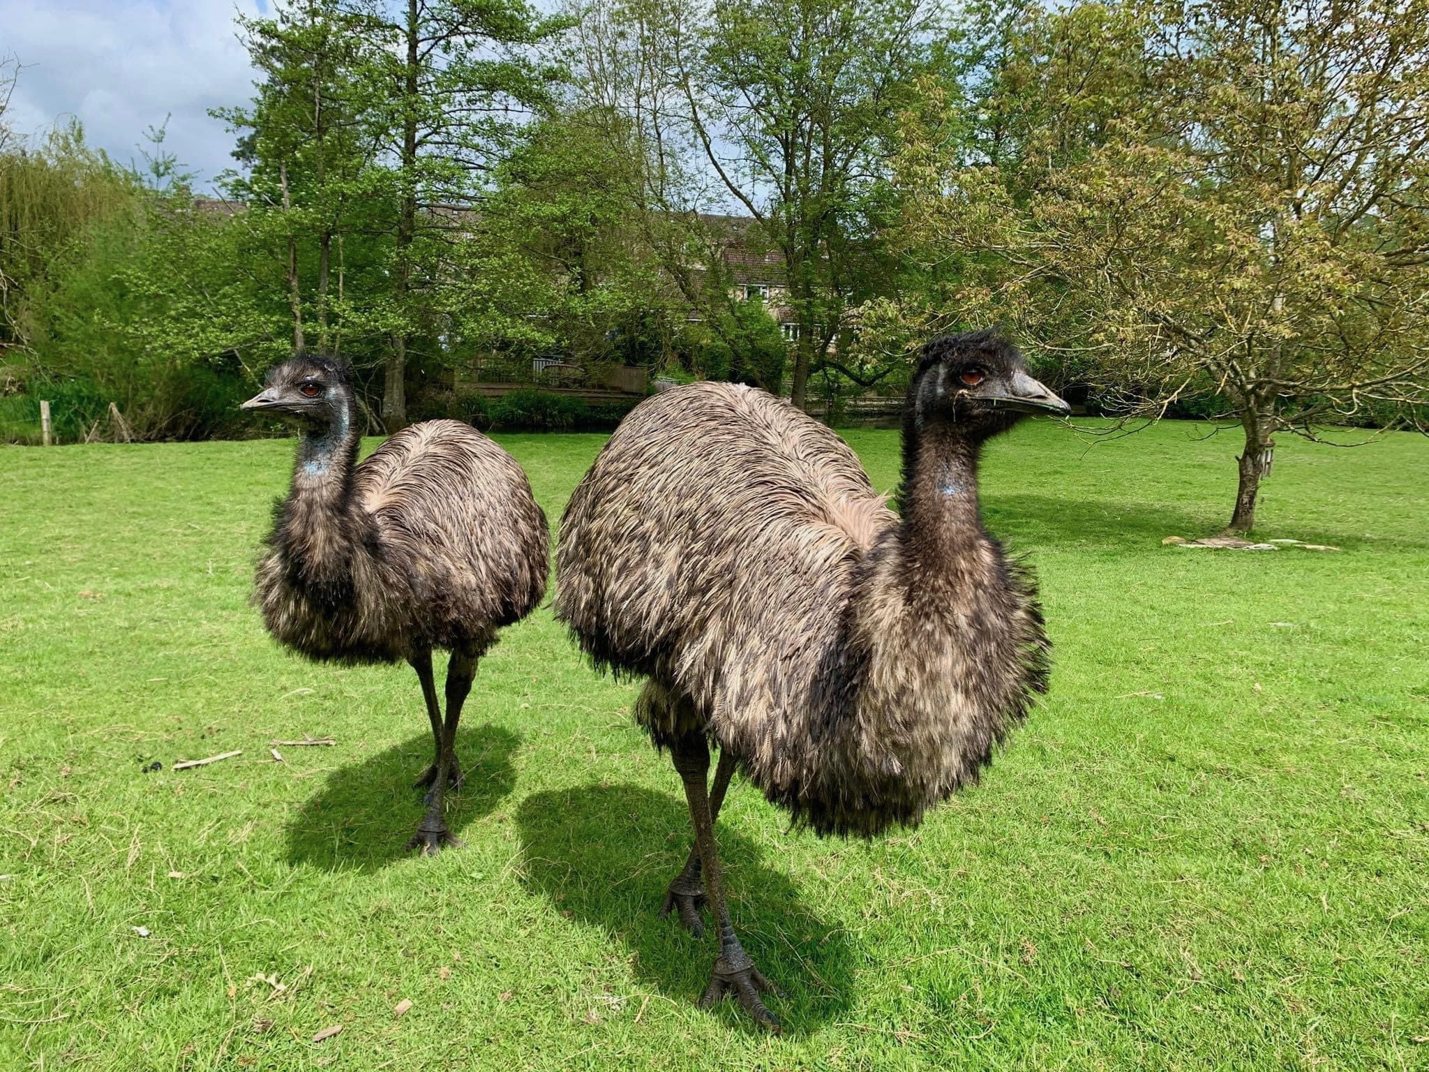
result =
[[[990,449],[1056,663],[980,786],[860,843],[736,782],[782,1038],[694,1008],[679,782],[549,609],[477,673],[466,848],[409,856],[416,676],[247,605],[290,442],[0,450],[0,1068],[1429,1066],[1429,442],[1282,445],[1259,535],[1338,555],[1163,547],[1229,516],[1195,432]],[[502,442],[554,522],[602,439]]]

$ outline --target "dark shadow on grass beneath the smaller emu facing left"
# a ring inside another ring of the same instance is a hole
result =
[[[500,726],[462,726],[456,752],[464,782],[447,795],[453,833],[489,815],[516,785],[512,755],[522,739]],[[412,782],[432,759],[432,735],[419,733],[366,759],[342,766],[287,820],[289,863],[324,870],[374,872],[410,859],[406,830],[422,815],[422,789]]]

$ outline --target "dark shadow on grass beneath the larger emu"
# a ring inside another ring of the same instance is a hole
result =
[[[699,939],[673,916],[660,918],[670,873],[689,852],[684,800],[634,785],[579,786],[526,798],[516,822],[526,886],[549,898],[553,912],[604,928],[634,953],[637,978],[694,1011],[719,941],[713,929]],[[730,913],[762,971],[785,991],[770,1002],[785,1033],[835,1019],[853,999],[853,953],[842,930],[803,908],[797,888],[765,866],[733,823],[722,819],[717,829]],[[720,1002],[716,1012],[729,1026],[759,1033],[739,1002]]]

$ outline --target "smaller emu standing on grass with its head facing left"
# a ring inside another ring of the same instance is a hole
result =
[[[269,632],[309,659],[412,663],[434,756],[417,779],[427,812],[407,848],[457,846],[442,810],[447,785],[462,783],[456,728],[476,663],[546,592],[550,537],[526,473],[456,420],[406,427],[357,465],[352,377],[319,354],[273,369],[243,409],[276,413],[300,433],[292,490],[257,567]],[[452,652],[446,722],[434,647]]]

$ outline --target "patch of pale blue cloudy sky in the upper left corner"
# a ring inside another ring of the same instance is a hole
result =
[[[206,190],[233,164],[211,107],[243,104],[254,71],[239,13],[266,0],[0,0],[0,59],[21,64],[7,123],[43,133],[70,116],[116,160],[140,160],[144,130],[169,119],[164,149]]]

